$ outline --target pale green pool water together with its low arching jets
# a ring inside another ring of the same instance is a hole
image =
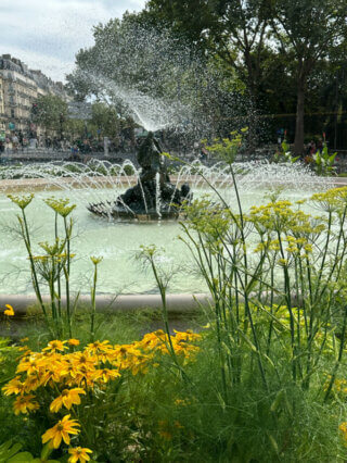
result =
[[[152,149],[154,150],[153,146]],[[152,162],[163,162],[158,152],[162,152],[160,148],[157,149],[156,158]],[[317,177],[299,164],[247,162],[235,163],[233,168],[244,211],[254,204],[268,202],[266,195],[269,187],[273,189],[284,187],[282,198],[295,202],[310,197],[313,191],[331,188],[336,182],[333,178]],[[18,240],[16,229],[12,229],[16,222],[17,209],[7,198],[8,192],[35,192],[35,199],[26,210],[28,224],[34,234],[33,251],[35,253],[41,252],[36,243],[44,240],[51,241],[54,235],[53,212],[46,207],[42,200],[54,196],[55,198],[67,198],[76,204],[74,210],[76,227],[72,249],[78,259],[74,261],[70,278],[72,288],[75,291],[81,290],[82,293],[89,291],[91,274],[89,256],[92,253],[104,256],[102,265],[100,265],[98,284],[100,292],[104,295],[156,292],[157,288],[152,274],[139,271],[139,264],[133,259],[140,245],[151,246],[153,243],[165,249],[159,264],[165,271],[172,271],[169,287],[171,293],[206,291],[207,288],[201,275],[196,274],[187,248],[178,239],[181,234],[178,221],[145,220],[142,222],[140,218],[136,221],[133,220],[136,214],[133,204],[131,210],[134,214],[128,211],[128,220],[114,220],[110,214],[116,201],[127,196],[127,191],[131,192],[132,187],[141,188],[141,185],[144,184],[141,177],[145,171],[143,166],[142,170],[138,170],[129,161],[124,165],[117,165],[110,161],[95,160],[88,164],[51,162],[0,168],[0,177],[2,177],[0,180],[0,243],[3,243],[0,249],[0,295],[9,292],[25,295],[33,291],[26,250],[23,242]],[[174,203],[174,200],[167,200],[165,193],[160,192],[160,172],[162,177],[167,180],[165,165],[160,168],[157,166],[151,177],[153,186],[151,198],[155,204],[152,207],[152,212],[154,215],[156,214],[157,218],[160,218],[160,211],[163,213],[166,208],[170,208],[169,204]],[[204,178],[213,186],[213,189],[208,187]],[[183,197],[187,197],[183,185],[188,184],[194,191],[195,198],[209,193],[213,201],[218,201],[215,189],[237,212],[231,174],[228,166],[222,163],[216,163],[213,167],[198,162],[183,165],[174,175],[170,175],[170,179],[171,183],[166,184],[169,185],[170,195],[180,191]],[[112,197],[115,199],[110,201]],[[102,216],[100,214],[88,212],[90,204],[103,204],[100,208],[105,208],[106,215]],[[150,201],[147,208],[149,205]],[[123,208],[126,210],[125,207]],[[306,205],[303,207],[303,209],[305,208]],[[177,212],[178,210],[172,213],[172,216],[176,216]],[[179,272],[176,272],[177,268]]]

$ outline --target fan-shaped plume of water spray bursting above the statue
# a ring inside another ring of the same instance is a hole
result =
[[[219,57],[204,55],[160,24],[141,13],[95,27],[93,47],[76,57],[69,87],[76,98],[94,96],[145,128],[175,126],[198,139],[207,126],[218,129],[216,115],[234,112],[237,83],[230,68],[220,78]]]

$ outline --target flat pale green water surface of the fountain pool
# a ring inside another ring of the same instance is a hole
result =
[[[244,190],[244,209],[267,202],[265,195],[265,190]],[[282,197],[296,201],[310,195],[310,191],[290,190],[282,193]],[[54,213],[42,201],[50,196],[52,192],[37,192],[26,209],[33,230],[34,252],[38,254],[42,253],[38,242],[54,239]],[[54,192],[54,196],[69,198],[72,202],[77,203],[73,213],[75,228],[72,252],[76,253],[72,268],[74,290],[89,292],[93,272],[90,255],[102,255],[103,261],[99,266],[99,292],[157,292],[153,275],[136,259],[141,245],[155,243],[163,249],[158,265],[168,273],[174,272],[169,284],[170,292],[206,291],[202,277],[195,272],[189,250],[178,239],[181,228],[177,222],[107,222],[88,212],[86,204],[94,199],[94,192],[89,189]],[[105,189],[99,191],[99,198],[102,197],[112,199],[113,195],[110,189]],[[235,203],[231,196],[229,200]],[[20,210],[5,195],[0,195],[0,292],[33,292],[25,247],[14,230]]]

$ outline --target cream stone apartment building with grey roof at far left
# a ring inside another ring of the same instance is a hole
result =
[[[0,57],[0,137],[22,132],[24,136],[40,133],[31,120],[33,103],[39,96],[55,95],[69,101],[62,83],[55,83],[41,71],[29,70],[11,54]]]

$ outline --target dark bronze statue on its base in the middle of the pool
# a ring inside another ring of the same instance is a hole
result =
[[[88,210],[93,214],[126,220],[178,218],[184,201],[190,202],[190,186],[181,189],[170,183],[163,149],[150,132],[142,141],[138,162],[142,168],[138,183],[115,201],[91,203]]]

